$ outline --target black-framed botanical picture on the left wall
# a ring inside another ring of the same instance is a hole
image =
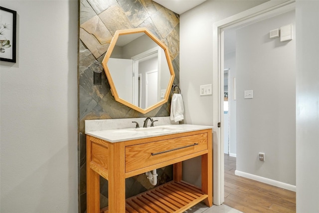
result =
[[[0,6],[0,60],[15,63],[16,11]]]

